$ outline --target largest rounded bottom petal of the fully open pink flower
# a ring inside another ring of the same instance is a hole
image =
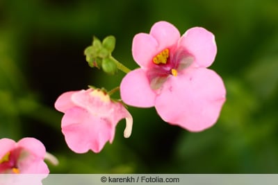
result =
[[[165,82],[155,107],[164,121],[199,132],[217,121],[225,94],[222,79],[214,71],[187,69]]]

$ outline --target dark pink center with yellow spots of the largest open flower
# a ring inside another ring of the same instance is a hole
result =
[[[177,76],[179,71],[189,67],[193,60],[193,56],[181,47],[163,49],[154,56],[154,65],[147,71],[152,89],[159,89],[169,76]]]

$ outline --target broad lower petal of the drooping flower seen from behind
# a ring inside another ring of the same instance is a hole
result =
[[[62,132],[70,149],[76,153],[92,150],[99,152],[107,141],[113,141],[115,128],[106,118],[88,114],[85,109],[74,108],[65,112]]]

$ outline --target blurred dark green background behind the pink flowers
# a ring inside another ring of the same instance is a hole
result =
[[[160,20],[181,34],[193,26],[214,33],[210,68],[227,87],[218,123],[190,133],[164,123],[154,108],[129,107],[129,139],[121,121],[112,145],[75,154],[60,132],[56,98],[88,85],[112,89],[124,76],[91,69],[83,50],[93,35],[115,35],[113,55],[135,69],[133,36]],[[0,138],[42,141],[60,161],[49,164],[51,173],[278,173],[277,71],[276,0],[0,1]]]

